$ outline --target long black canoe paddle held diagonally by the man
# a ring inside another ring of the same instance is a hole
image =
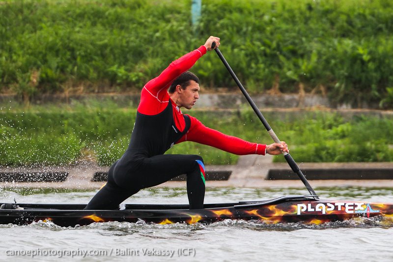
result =
[[[213,42],[212,48],[216,46],[216,43]],[[256,107],[254,101],[251,99],[250,95],[247,93],[246,89],[243,87],[243,85],[240,83],[239,79],[233,72],[232,68],[229,66],[228,62],[225,60],[223,54],[221,54],[220,50],[215,48],[217,55],[220,57],[221,61],[223,61],[226,69],[228,69],[230,75],[232,76],[233,80],[235,80],[237,86],[240,88],[244,96],[246,97],[247,101],[249,101],[251,107],[253,108],[255,114],[258,116],[259,120],[261,120],[262,124],[265,126],[267,132],[269,135],[273,138],[274,142],[280,143],[280,139],[277,137],[277,135],[274,133],[273,129],[270,127],[269,123],[266,121],[265,117],[262,115],[262,113],[259,111],[259,109]],[[303,175],[302,171],[299,169],[298,165],[296,164],[295,160],[293,160],[292,156],[284,152],[284,157],[286,162],[288,162],[289,166],[291,167],[292,171],[296,173],[300,180],[302,180],[303,184],[306,186],[307,190],[309,190],[309,193],[314,196],[315,199],[319,199],[316,196],[315,191],[312,189],[310,186],[309,182],[307,181],[306,177]]]

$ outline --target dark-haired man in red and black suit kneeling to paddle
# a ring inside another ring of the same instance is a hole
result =
[[[288,152],[285,142],[261,145],[220,133],[204,126],[197,118],[183,115],[180,108],[191,109],[199,98],[199,79],[187,71],[212,43],[210,36],[197,50],[169,64],[158,77],[142,89],[130,145],[108,172],[107,184],[85,209],[118,209],[119,204],[140,189],[159,185],[169,179],[187,175],[190,209],[203,208],[205,170],[199,155],[165,155],[171,146],[193,141],[227,152],[246,155]]]

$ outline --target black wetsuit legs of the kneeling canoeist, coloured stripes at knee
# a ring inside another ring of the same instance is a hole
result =
[[[113,164],[108,172],[108,183],[93,197],[85,209],[116,209],[121,202],[140,189],[162,184],[182,174],[187,175],[190,209],[203,208],[205,181],[202,175],[203,160],[200,156],[157,155],[143,158],[135,170],[119,161]]]

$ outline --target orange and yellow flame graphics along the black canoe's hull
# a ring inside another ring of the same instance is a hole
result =
[[[337,207],[331,210],[330,208],[328,208],[327,203],[329,202],[303,202],[303,204],[310,206],[313,211],[302,212],[301,216],[299,216],[297,213],[298,204],[280,203],[258,206],[254,207],[253,209],[202,209],[198,211],[198,213],[184,213],[183,211],[177,213],[177,215],[174,215],[173,217],[171,216],[166,219],[161,219],[159,220],[159,222],[157,220],[151,222],[158,223],[160,225],[174,224],[176,222],[195,224],[198,222],[212,222],[214,221],[214,218],[215,221],[219,221],[225,218],[241,218],[245,220],[259,219],[266,224],[303,222],[305,224],[321,225],[330,221],[347,220],[362,216],[371,217],[383,215],[384,218],[387,219],[387,221],[391,221],[393,223],[393,208],[390,204],[353,203],[354,206],[357,206],[357,212],[355,212],[354,210],[353,213],[346,213],[344,205],[341,205],[341,207]],[[346,202],[343,201],[342,203]],[[319,209],[318,206],[320,206]],[[303,213],[305,214],[303,215]],[[106,222],[103,218],[96,215],[85,216],[84,218],[90,219],[94,222]],[[149,219],[146,219],[146,222],[149,222]]]

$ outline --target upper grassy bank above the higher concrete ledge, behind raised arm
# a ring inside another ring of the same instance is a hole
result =
[[[332,101],[393,108],[390,0],[210,0],[191,25],[190,0],[5,0],[0,91],[140,90],[168,63],[222,38],[253,92],[321,92]],[[206,87],[233,87],[208,54],[193,68]]]

